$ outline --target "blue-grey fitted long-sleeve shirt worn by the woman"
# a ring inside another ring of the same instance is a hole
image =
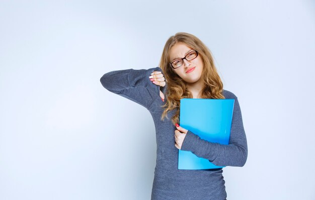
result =
[[[176,127],[171,120],[161,120],[163,102],[160,89],[153,84],[150,73],[162,71],[160,67],[149,69],[115,70],[101,77],[102,85],[109,91],[126,97],[145,107],[151,114],[156,133],[156,166],[151,199],[225,199],[226,191],[222,168],[203,170],[178,169],[178,152],[175,147]],[[191,151],[218,166],[244,166],[247,160],[247,139],[237,96],[223,90],[225,98],[235,99],[228,145],[208,142],[188,130],[181,150]],[[167,98],[165,98],[167,100]],[[175,110],[168,113],[169,119]]]

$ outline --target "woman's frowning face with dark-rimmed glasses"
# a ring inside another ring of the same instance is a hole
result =
[[[188,53],[190,53],[192,48],[186,46],[184,43],[176,43],[171,49],[169,53],[169,57],[171,62],[177,60],[178,58],[184,58]],[[171,67],[171,66],[170,66]],[[202,70],[203,70],[203,62],[201,57],[198,55],[196,58],[188,61],[184,59],[183,64],[174,69],[173,71],[179,75],[184,81],[187,83],[195,83],[200,80]],[[189,71],[193,69],[192,71]],[[189,72],[189,73],[188,73]]]

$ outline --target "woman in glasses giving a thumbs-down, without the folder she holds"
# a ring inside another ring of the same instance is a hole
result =
[[[222,168],[178,169],[178,149],[217,166],[244,166],[248,150],[238,98],[223,89],[210,50],[194,35],[170,37],[160,67],[116,70],[101,78],[106,89],[144,106],[152,115],[157,149],[151,199],[226,199]],[[235,99],[229,144],[208,142],[180,127],[181,98]]]

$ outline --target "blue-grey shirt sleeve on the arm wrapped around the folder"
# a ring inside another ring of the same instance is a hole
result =
[[[228,145],[203,140],[188,130],[181,150],[191,151],[196,156],[206,158],[217,166],[244,166],[248,149],[238,98],[235,97]]]

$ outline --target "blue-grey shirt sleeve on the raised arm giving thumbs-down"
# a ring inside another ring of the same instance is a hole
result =
[[[160,96],[160,86],[149,79],[153,71],[161,71],[161,68],[110,71],[100,81],[107,90],[149,109],[156,97]]]

